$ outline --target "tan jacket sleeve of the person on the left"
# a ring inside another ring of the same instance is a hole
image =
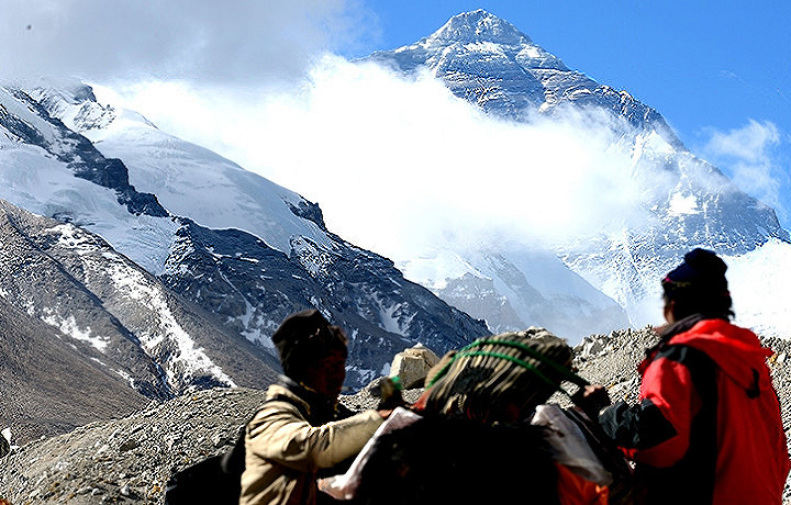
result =
[[[381,425],[376,411],[311,426],[297,407],[270,402],[247,427],[248,451],[299,471],[333,467],[356,454]]]

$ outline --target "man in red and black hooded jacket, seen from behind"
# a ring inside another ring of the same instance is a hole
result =
[[[667,274],[668,325],[640,364],[640,402],[599,415],[636,462],[645,503],[782,503],[790,463],[772,351],[729,323],[726,269],[694,249]]]

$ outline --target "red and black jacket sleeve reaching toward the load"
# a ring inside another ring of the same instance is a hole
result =
[[[640,403],[619,402],[604,409],[599,420],[630,458],[667,468],[687,453],[692,418],[700,407],[689,369],[670,357],[660,357],[643,375]]]

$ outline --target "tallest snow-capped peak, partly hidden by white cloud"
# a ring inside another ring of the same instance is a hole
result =
[[[636,199],[634,209],[630,216],[612,220],[623,222],[608,226],[606,233],[571,239],[555,246],[555,252],[573,272],[624,307],[634,325],[656,323],[661,317],[656,302],[657,279],[684,251],[703,246],[737,256],[771,240],[789,242],[788,232],[771,209],[739,191],[720,170],[690,153],[656,110],[626,91],[568,69],[514,26],[486,11],[456,15],[419,43],[375,53],[368,60],[405,75],[427,68],[459,99],[509,121],[535,124],[542,116],[542,121],[588,128],[594,123],[599,134],[608,135],[608,150],[628,160],[621,164],[622,172],[612,177],[630,181],[631,194]],[[575,114],[584,117],[577,121]],[[534,169],[530,154],[514,164],[517,170]],[[608,186],[619,184],[611,181]],[[525,251],[530,252],[530,247],[526,245]],[[405,261],[404,267],[410,276],[431,279],[438,287],[437,278],[448,271],[442,258],[453,258],[453,252],[436,254],[434,271],[427,259]],[[524,306],[524,300],[537,300],[538,290],[532,296],[524,295],[532,292],[526,285],[541,283],[521,279],[535,278],[530,267],[525,268],[527,263],[517,260],[520,254],[511,249],[495,255],[481,251],[477,258],[469,252],[460,256],[460,265],[469,267],[467,271],[446,279],[442,284],[445,288],[435,291],[490,325],[497,317],[524,321],[514,317],[519,311],[502,311],[505,302]],[[549,284],[549,291],[545,288],[541,292],[549,295],[552,289]],[[523,293],[523,300],[517,293]],[[484,296],[491,301],[488,307],[479,303]],[[468,303],[475,298],[478,307]],[[582,300],[590,301],[578,298],[578,306],[583,305]],[[501,315],[494,316],[493,311]],[[542,313],[546,315],[547,311]],[[567,315],[548,324],[565,327],[575,317]],[[581,325],[581,330],[595,332],[594,322],[606,325],[617,321],[609,317],[594,316]]]

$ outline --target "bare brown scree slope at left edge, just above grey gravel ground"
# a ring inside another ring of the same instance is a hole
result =
[[[148,400],[99,357],[0,298],[0,428],[23,442],[143,408]]]

